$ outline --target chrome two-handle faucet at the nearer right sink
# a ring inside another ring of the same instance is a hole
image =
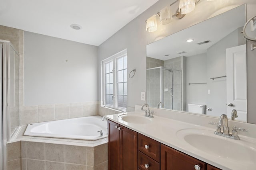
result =
[[[220,120],[219,120],[218,124],[217,123],[212,123],[212,122],[210,122],[209,124],[217,125],[216,131],[214,132],[214,134],[220,135],[220,136],[223,136],[223,137],[232,138],[232,139],[235,139],[235,140],[240,140],[236,130],[248,132],[248,130],[246,130],[244,128],[237,128],[237,127],[234,126],[233,130],[232,130],[232,133],[229,134],[228,117],[225,114],[222,114],[220,116]]]

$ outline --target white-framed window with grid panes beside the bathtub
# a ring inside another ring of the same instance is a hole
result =
[[[127,53],[126,50],[102,61],[103,105],[119,110],[127,107]]]

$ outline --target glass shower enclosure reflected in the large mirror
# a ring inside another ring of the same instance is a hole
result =
[[[161,103],[160,103],[161,102]],[[147,69],[147,103],[150,107],[182,110],[181,70],[163,66]]]

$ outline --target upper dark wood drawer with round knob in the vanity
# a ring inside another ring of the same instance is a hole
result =
[[[145,148],[145,145],[149,146],[148,149]],[[160,162],[160,142],[139,133],[138,150]]]

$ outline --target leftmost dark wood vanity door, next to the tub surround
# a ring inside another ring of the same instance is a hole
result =
[[[120,140],[117,123],[108,120],[108,169],[120,170]]]

